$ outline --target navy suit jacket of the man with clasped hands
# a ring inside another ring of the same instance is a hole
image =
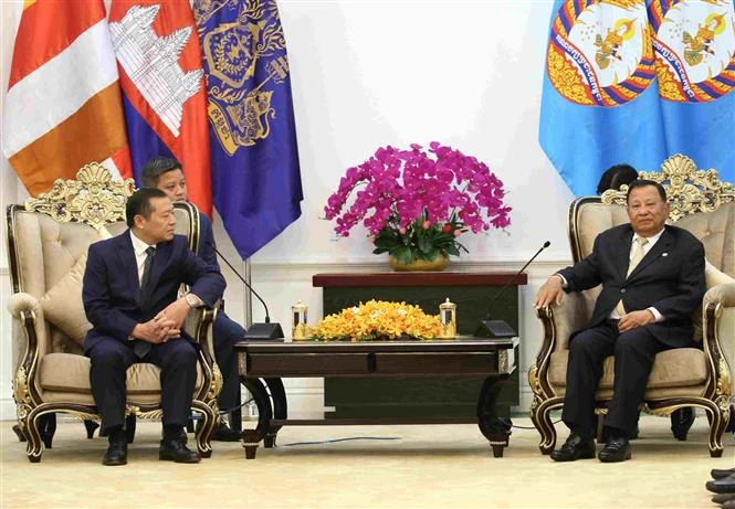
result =
[[[90,245],[82,299],[93,327],[84,341],[84,351],[92,349],[102,337],[127,343],[137,324],[148,321],[177,299],[181,283],[188,284],[210,307],[224,291],[224,278],[219,269],[195,255],[186,237],[174,235],[172,241],[156,246],[150,267],[150,284],[155,289],[144,309],[130,231]]]

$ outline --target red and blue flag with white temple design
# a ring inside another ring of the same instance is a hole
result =
[[[136,180],[148,159],[172,156],[189,199],[211,216],[207,92],[189,2],[113,0],[109,30]]]

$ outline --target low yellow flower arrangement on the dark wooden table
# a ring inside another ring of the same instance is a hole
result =
[[[376,341],[406,336],[432,339],[441,335],[441,320],[419,306],[369,300],[324,317],[311,332],[313,339],[324,341]]]

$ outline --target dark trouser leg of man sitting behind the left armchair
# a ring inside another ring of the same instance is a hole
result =
[[[214,360],[222,372],[222,392],[218,397],[220,410],[240,406],[240,373],[234,344],[245,338],[245,329],[224,312],[218,315],[212,327]]]

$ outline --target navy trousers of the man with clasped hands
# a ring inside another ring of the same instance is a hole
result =
[[[197,383],[197,347],[186,339],[154,344],[143,359],[133,348],[113,338],[102,338],[88,352],[92,368],[90,382],[102,430],[125,423],[127,400],[126,372],[135,362],[149,362],[160,368],[164,425],[185,425],[191,414],[191,400]]]

